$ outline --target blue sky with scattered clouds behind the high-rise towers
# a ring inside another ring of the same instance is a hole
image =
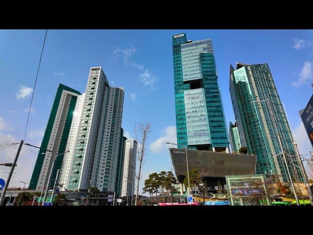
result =
[[[312,30],[48,30],[25,141],[40,145],[59,83],[83,93],[89,68],[101,66],[111,86],[125,88],[125,135],[136,122],[152,123],[142,183],[149,173],[170,170],[164,142],[176,142],[172,35],[182,32],[187,40],[212,39],[227,125],[234,121],[229,65],[268,63],[300,153],[312,149],[298,115],[313,93]],[[0,143],[23,138],[44,36],[0,30]],[[0,162],[12,162],[15,152],[0,150]],[[23,147],[10,187],[29,182],[35,161]],[[0,166],[0,178],[8,171]]]

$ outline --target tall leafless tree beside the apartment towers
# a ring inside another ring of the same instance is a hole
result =
[[[148,134],[151,132],[151,123],[143,124],[135,124],[134,125],[134,138],[137,141],[137,160],[138,160],[138,173],[135,174],[137,179],[137,186],[136,186],[136,197],[135,197],[135,206],[137,206],[137,199],[139,193],[139,181],[142,178],[141,175],[141,167],[145,163],[145,156],[146,156],[146,143],[148,140]],[[138,139],[139,135],[139,139]]]

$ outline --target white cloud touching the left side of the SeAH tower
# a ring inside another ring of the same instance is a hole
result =
[[[170,147],[170,145],[165,142],[177,143],[176,126],[167,126],[163,131],[165,131],[165,135],[152,142],[149,146],[153,153],[160,152],[161,150]]]

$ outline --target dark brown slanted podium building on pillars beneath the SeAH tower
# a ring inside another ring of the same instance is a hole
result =
[[[225,193],[226,175],[255,174],[255,155],[191,149],[187,149],[186,153],[186,149],[178,148],[170,148],[169,151],[181,194],[184,191],[183,181],[187,177],[186,158],[188,158],[189,172],[198,169],[200,175],[203,176],[205,196],[209,193]]]

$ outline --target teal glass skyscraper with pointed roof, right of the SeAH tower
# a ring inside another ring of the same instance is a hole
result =
[[[237,63],[236,70],[230,65],[229,91],[241,144],[247,147],[248,153],[257,156],[256,173],[278,174],[282,182],[290,181],[282,158],[282,151],[285,151],[291,176],[302,182],[300,170],[293,165],[298,162],[291,129],[268,64]]]

